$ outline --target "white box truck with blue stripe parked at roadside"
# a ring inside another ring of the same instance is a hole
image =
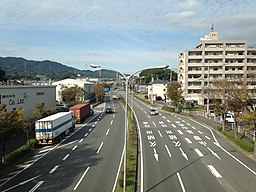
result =
[[[35,122],[36,140],[38,144],[53,144],[62,136],[72,132],[75,123],[71,112],[59,112]]]

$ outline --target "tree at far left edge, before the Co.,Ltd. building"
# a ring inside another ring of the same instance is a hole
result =
[[[24,111],[16,109],[11,112],[0,112],[0,144],[2,146],[2,162],[5,162],[6,143],[17,134],[22,128],[24,120]]]

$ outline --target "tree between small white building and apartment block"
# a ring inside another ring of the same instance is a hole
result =
[[[178,82],[171,82],[169,85],[167,85],[167,97],[171,99],[172,104],[177,109],[178,104],[182,101],[182,90],[181,90],[181,84]]]

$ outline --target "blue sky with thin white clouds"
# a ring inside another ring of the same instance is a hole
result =
[[[256,47],[255,0],[0,0],[0,56],[123,73],[159,65],[210,32]]]

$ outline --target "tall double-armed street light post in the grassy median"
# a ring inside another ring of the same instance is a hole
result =
[[[161,66],[155,66],[155,67],[147,67],[147,68],[143,68],[143,69],[139,69],[137,71],[135,71],[134,73],[130,74],[129,76],[126,76],[124,73],[122,73],[121,71],[117,70],[117,69],[113,69],[111,67],[108,66],[100,66],[97,64],[90,64],[90,67],[92,68],[104,68],[104,69],[109,69],[112,71],[116,71],[119,74],[121,74],[123,76],[123,78],[125,79],[125,131],[124,131],[124,184],[123,184],[123,189],[125,191],[126,188],[126,150],[127,150],[127,131],[128,131],[128,81],[131,79],[131,77],[133,75],[135,75],[136,73],[139,73],[143,70],[147,70],[147,69],[166,69],[169,67],[169,65],[161,65]]]

